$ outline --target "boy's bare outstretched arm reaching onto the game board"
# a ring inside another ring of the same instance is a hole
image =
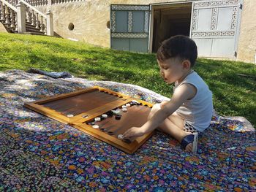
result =
[[[167,117],[173,114],[181,104],[187,99],[192,99],[197,90],[194,85],[184,83],[183,85],[176,88],[170,101],[165,104],[161,110],[157,111],[153,117],[148,120],[140,128],[130,128],[124,133],[124,138],[139,137],[157,128]]]

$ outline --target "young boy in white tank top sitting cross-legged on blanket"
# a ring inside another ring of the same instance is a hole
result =
[[[148,121],[140,128],[129,128],[124,139],[140,137],[159,128],[177,139],[184,150],[197,153],[197,132],[209,126],[213,104],[208,86],[192,70],[196,58],[197,46],[189,37],[178,35],[162,43],[157,62],[165,82],[175,82],[173,96],[170,101],[155,104]]]

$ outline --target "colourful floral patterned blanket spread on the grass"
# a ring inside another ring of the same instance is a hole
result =
[[[129,155],[23,107],[93,85],[166,99],[117,82],[0,72],[0,191],[256,191],[256,134],[245,118],[214,115],[196,155],[161,132]]]

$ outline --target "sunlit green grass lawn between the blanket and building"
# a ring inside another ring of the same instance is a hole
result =
[[[170,85],[159,77],[154,54],[110,50],[54,37],[0,33],[0,71],[29,68],[132,83],[167,97],[172,94]],[[198,59],[195,71],[213,92],[214,108],[220,115],[244,116],[256,125],[255,64]]]

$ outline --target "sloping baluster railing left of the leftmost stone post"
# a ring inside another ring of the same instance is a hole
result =
[[[18,30],[17,9],[5,0],[0,0],[0,20],[12,31]]]

